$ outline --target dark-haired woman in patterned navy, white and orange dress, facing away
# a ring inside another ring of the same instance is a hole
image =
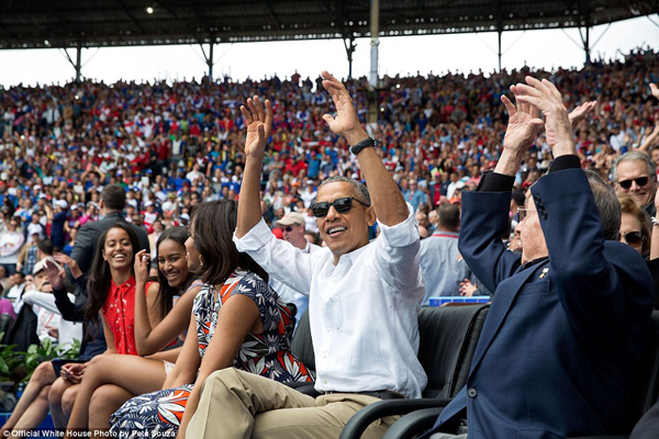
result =
[[[233,244],[236,215],[237,203],[228,200],[192,211],[188,264],[199,270],[204,285],[194,299],[189,336],[164,390],[125,403],[110,419],[113,432],[182,437],[203,381],[220,369],[234,367],[280,382],[312,380],[290,352],[287,306],[268,285],[268,274]]]

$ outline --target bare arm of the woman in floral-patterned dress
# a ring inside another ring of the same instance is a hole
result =
[[[179,427],[178,439],[186,437],[188,424],[199,405],[203,382],[211,373],[232,365],[238,349],[241,349],[249,331],[263,333],[258,307],[246,295],[233,295],[222,305],[217,314],[217,326],[201,361],[194,387],[190,392],[186,412],[181,419],[181,426]]]

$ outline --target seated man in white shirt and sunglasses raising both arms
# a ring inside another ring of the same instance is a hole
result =
[[[319,398],[233,368],[209,376],[199,409],[181,435],[233,438],[337,438],[345,423],[380,398],[420,397],[427,378],[416,359],[417,312],[425,288],[416,219],[362,130],[345,86],[323,71],[336,115],[323,119],[351,145],[369,191],[344,177],[325,180],[312,205],[328,248],[311,255],[275,238],[261,218],[259,180],[271,131],[269,101],[242,108],[245,173],[234,241],[272,277],[309,291]],[[372,205],[371,205],[372,200]],[[369,243],[368,227],[380,235]],[[379,438],[393,418],[371,425]]]

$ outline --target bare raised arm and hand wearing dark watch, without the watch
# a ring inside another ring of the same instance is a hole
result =
[[[330,130],[334,134],[345,137],[350,146],[367,139],[368,134],[359,123],[355,104],[346,87],[327,71],[323,71],[322,76],[323,87],[330,92],[334,106],[336,106],[336,115],[323,115],[323,119],[330,125]],[[357,159],[366,178],[366,184],[378,221],[387,226],[394,226],[405,221],[410,216],[410,212],[403,194],[384,165],[382,165],[376,149],[361,149],[357,154]]]

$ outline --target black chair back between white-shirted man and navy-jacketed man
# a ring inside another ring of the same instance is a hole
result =
[[[424,306],[418,313],[418,360],[428,384],[424,398],[451,398],[467,383],[490,305]]]

